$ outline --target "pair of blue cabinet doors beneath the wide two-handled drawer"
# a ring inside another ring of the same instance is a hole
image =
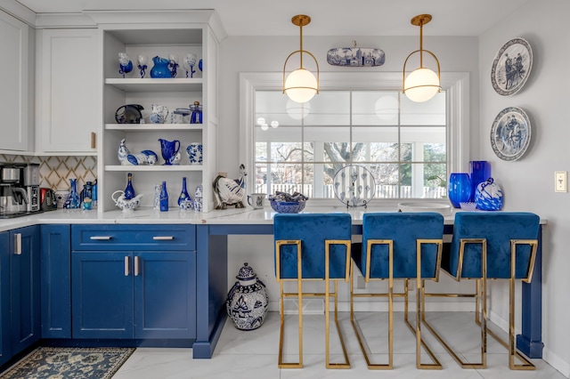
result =
[[[73,338],[196,337],[195,252],[73,252]]]

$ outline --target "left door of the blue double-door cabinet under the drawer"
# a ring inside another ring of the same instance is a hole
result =
[[[71,252],[73,338],[133,338],[132,254]]]

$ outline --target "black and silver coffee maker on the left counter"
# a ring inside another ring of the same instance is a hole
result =
[[[0,218],[40,212],[39,165],[0,164]]]

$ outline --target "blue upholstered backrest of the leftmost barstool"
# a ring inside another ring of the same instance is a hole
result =
[[[350,214],[275,214],[273,236],[275,241],[300,240],[302,277],[324,279],[325,241],[346,240],[350,246],[352,219]],[[275,273],[277,278],[297,278],[297,246],[281,246],[281,252],[275,254],[275,259],[278,256],[281,272],[278,276]],[[330,246],[330,278],[346,278],[346,266],[346,246]]]

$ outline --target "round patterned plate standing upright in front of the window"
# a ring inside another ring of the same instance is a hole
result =
[[[346,207],[366,207],[376,189],[374,176],[362,165],[346,165],[338,170],[333,185],[335,196]]]

